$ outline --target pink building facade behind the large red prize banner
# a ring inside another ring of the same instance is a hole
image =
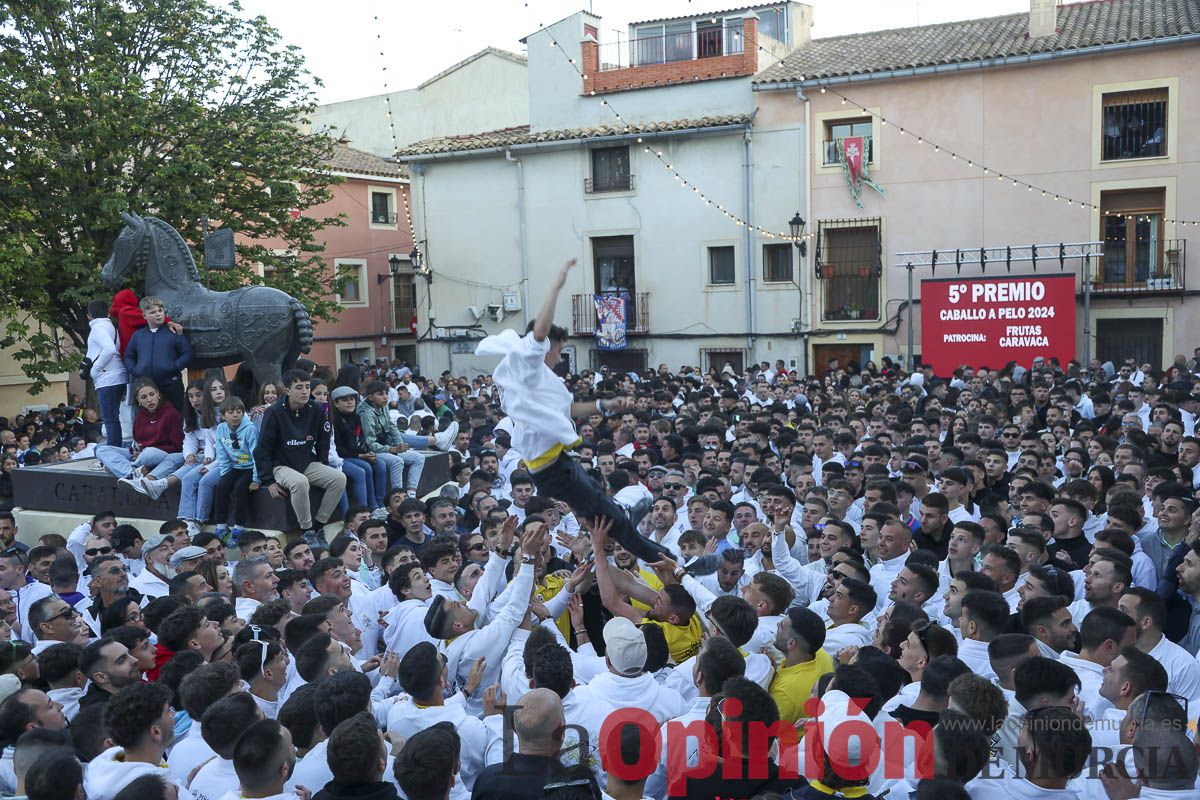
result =
[[[1093,356],[1156,367],[1190,356],[1200,343],[1187,275],[1200,239],[1187,224],[1200,219],[1200,139],[1188,134],[1200,122],[1198,42],[1193,0],[1032,0],[1028,14],[814,40],[764,70],[756,126],[808,131],[814,366],[904,355],[910,313],[919,355],[919,305],[906,305],[896,253],[943,253],[947,266],[918,269],[919,282],[953,275],[956,248],[1087,241],[1103,241],[1103,258],[1086,272],[1067,264],[1079,289],[1076,353],[1086,281]],[[886,191],[863,188],[862,207],[840,163],[847,137],[863,138],[869,175]]]

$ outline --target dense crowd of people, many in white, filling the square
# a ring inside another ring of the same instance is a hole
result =
[[[4,426],[12,469],[104,435],[185,499],[34,547],[0,512],[0,790],[1198,796],[1194,363],[560,375],[569,269],[487,375],[211,375],[186,419],[139,375],[138,453],[112,415]],[[430,447],[416,498],[390,456]],[[251,488],[304,535],[239,524]]]

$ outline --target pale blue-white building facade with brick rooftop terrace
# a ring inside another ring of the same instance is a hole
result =
[[[756,116],[750,82],[810,25],[811,8],[785,2],[601,43],[600,18],[580,12],[526,40],[528,125],[402,148],[430,270],[422,369],[491,369],[475,342],[523,330],[570,258],[556,319],[576,369],[803,368],[803,270],[779,234],[804,204],[806,138],[794,119]],[[601,349],[596,297],[614,293],[626,347]]]

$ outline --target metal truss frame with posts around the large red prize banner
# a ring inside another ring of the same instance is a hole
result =
[[[1038,264],[1060,272],[1067,271],[1067,263],[1082,261],[1084,288],[1084,363],[1090,360],[1090,348],[1092,342],[1092,259],[1104,254],[1104,242],[1060,242],[1057,245],[1004,245],[1002,247],[954,247],[949,249],[919,249],[896,253],[895,266],[908,271],[908,368],[916,369],[913,359],[912,339],[912,279],[917,267],[929,267],[930,277],[937,276],[937,269],[954,267],[955,273],[961,273],[964,266],[978,266],[980,275],[985,275],[988,266],[1003,266],[1007,272],[1013,271],[1013,264],[1031,264],[1037,272]]]

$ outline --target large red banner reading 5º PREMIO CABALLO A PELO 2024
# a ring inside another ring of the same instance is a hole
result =
[[[1075,357],[1074,275],[920,282],[920,360],[938,375],[1036,356]]]

